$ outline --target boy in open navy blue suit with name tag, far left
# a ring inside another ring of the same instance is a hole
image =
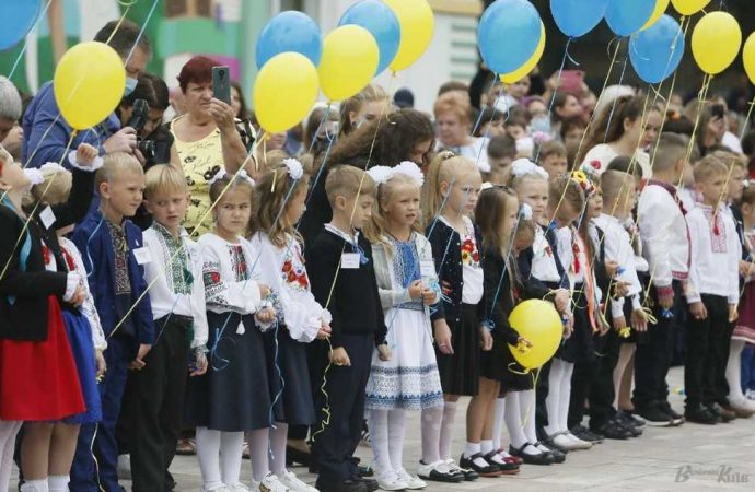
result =
[[[144,281],[149,253],[139,227],[126,219],[141,204],[144,173],[136,157],[123,152],[107,154],[104,161],[95,177],[100,207],[90,211],[72,236],[82,253],[108,339],[107,372],[100,383],[103,419],[98,425],[82,425],[79,433],[70,482],[70,489],[77,492],[98,492],[101,488],[120,492],[115,426],[126,373],[144,367],[144,356],[154,342]]]

